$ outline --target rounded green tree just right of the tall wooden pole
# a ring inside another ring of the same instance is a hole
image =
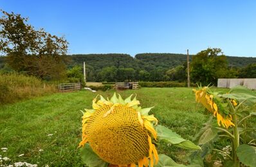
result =
[[[226,56],[220,53],[219,48],[208,48],[192,57],[191,78],[193,82],[216,85],[218,78],[226,77],[228,63]]]

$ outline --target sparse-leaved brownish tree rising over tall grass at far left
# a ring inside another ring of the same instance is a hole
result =
[[[64,37],[35,30],[20,14],[1,12],[0,53],[7,56],[9,66],[40,78],[62,78],[68,49]]]

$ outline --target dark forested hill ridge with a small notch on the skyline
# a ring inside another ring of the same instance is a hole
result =
[[[192,55],[190,55],[191,60]],[[182,65],[187,61],[187,55],[175,53],[140,53],[131,57],[127,54],[89,54],[71,55],[72,63],[82,64],[86,62],[95,70],[103,67],[133,67],[134,69],[151,70],[154,67],[172,68]],[[244,67],[248,64],[256,63],[256,57],[227,57],[228,66]]]

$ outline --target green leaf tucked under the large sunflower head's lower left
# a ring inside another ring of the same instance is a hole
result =
[[[91,149],[89,144],[86,144],[84,148],[81,148],[81,159],[84,164],[89,167],[107,167],[108,163],[100,159],[95,152]]]

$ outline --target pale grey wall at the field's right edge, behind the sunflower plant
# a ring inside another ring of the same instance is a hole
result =
[[[256,78],[219,78],[217,87],[232,88],[237,85],[256,90]]]

